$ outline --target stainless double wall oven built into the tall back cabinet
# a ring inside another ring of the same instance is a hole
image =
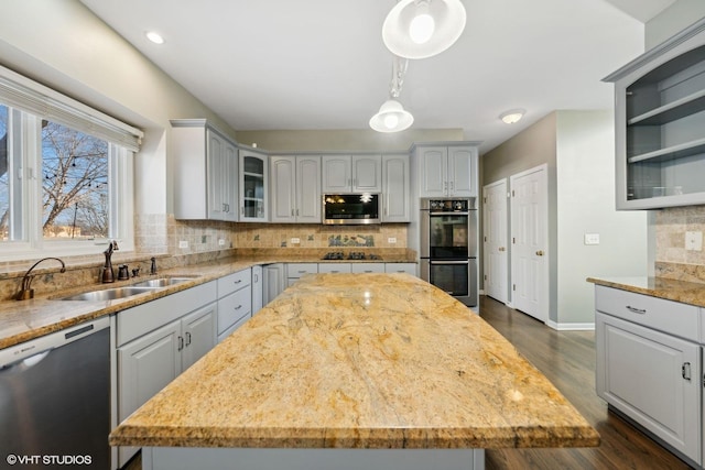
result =
[[[475,198],[421,199],[421,277],[468,306],[477,306]]]

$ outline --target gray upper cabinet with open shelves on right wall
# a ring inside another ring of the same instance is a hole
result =
[[[617,208],[705,204],[705,20],[605,81],[616,94]]]

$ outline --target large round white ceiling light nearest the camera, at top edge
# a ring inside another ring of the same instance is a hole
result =
[[[400,0],[384,19],[382,40],[400,57],[431,57],[460,37],[465,22],[460,0]]]

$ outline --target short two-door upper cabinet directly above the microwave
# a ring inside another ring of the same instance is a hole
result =
[[[324,155],[323,193],[380,193],[381,155]]]

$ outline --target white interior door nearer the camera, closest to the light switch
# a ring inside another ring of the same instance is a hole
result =
[[[518,310],[549,320],[546,165],[509,178],[511,187],[511,302]]]

